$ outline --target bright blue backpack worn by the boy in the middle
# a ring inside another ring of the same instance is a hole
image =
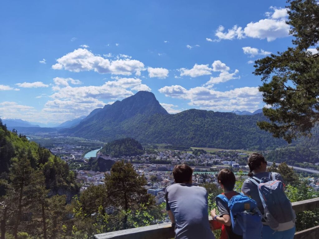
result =
[[[243,195],[233,196],[230,200],[223,194],[217,196],[228,204],[232,231],[243,239],[261,238],[262,216],[255,200]]]

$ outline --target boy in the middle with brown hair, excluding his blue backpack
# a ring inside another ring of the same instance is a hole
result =
[[[219,171],[217,180],[220,184],[220,187],[224,190],[222,194],[224,194],[228,200],[230,200],[233,196],[238,195],[240,193],[234,191],[235,186],[235,175],[229,169],[222,169]],[[216,215],[216,209],[211,210],[211,217],[223,224],[221,228],[220,239],[242,239],[241,235],[236,235],[231,228],[232,222],[230,219],[230,212],[228,208],[228,204],[216,197],[216,205],[219,211],[219,215]]]

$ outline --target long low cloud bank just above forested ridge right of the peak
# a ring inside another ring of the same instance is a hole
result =
[[[258,87],[242,87],[230,91],[215,91],[206,87],[186,90],[180,85],[165,86],[159,89],[166,97],[189,100],[189,105],[214,111],[232,111],[234,109],[254,111],[262,103],[262,94]]]

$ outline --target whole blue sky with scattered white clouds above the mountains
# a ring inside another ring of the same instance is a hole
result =
[[[252,61],[291,45],[285,1],[2,1],[0,116],[63,122],[152,91],[170,113],[263,107]]]

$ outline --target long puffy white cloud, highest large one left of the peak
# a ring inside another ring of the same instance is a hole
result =
[[[66,69],[73,72],[90,71],[115,75],[139,74],[145,70],[144,64],[137,60],[118,59],[115,61],[105,59],[99,55],[94,55],[87,49],[79,48],[56,60],[58,63],[52,69]]]

